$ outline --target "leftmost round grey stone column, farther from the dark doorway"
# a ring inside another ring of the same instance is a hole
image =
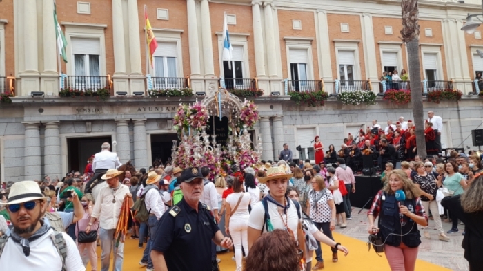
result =
[[[42,166],[39,122],[23,122],[23,125],[25,125],[23,179],[41,180]]]

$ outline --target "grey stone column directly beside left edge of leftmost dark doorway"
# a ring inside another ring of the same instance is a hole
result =
[[[60,122],[47,122],[43,138],[43,174],[49,175],[52,180],[62,173],[59,124]]]

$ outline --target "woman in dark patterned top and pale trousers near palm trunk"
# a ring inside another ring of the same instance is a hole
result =
[[[428,162],[431,164],[431,162]],[[433,214],[433,220],[435,221],[437,231],[440,233],[438,239],[441,241],[449,241],[449,237],[444,235],[443,226],[441,223],[440,210],[436,202],[437,189],[442,185],[441,179],[436,179],[435,175],[428,173],[425,169],[423,162],[416,162],[414,165],[416,175],[413,180],[417,188],[420,188],[421,202],[424,206],[424,210],[431,210]],[[431,239],[431,235],[428,232],[428,226],[424,227],[424,238]]]

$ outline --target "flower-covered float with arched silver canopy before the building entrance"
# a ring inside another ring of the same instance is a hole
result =
[[[253,144],[248,129],[258,120],[253,101],[210,85],[203,100],[179,104],[173,121],[179,143],[172,141],[172,160],[182,169],[208,166],[215,175],[230,173],[235,164],[242,170],[253,166],[262,155],[262,138]]]

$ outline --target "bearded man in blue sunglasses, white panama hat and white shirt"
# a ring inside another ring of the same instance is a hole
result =
[[[41,220],[46,197],[32,181],[12,185],[7,206],[14,226],[0,239],[2,270],[84,271],[79,250],[65,232],[55,232]]]

